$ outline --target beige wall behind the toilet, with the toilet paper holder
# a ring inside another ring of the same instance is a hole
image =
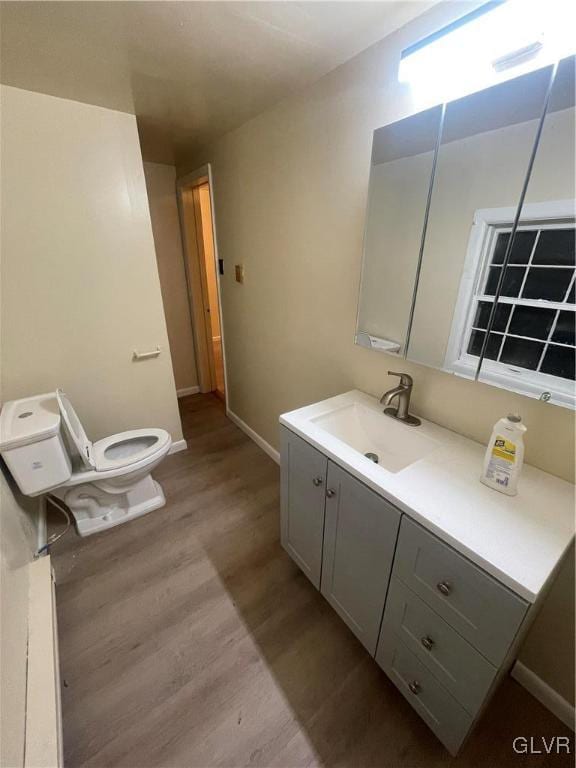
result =
[[[1,97],[4,399],[60,386],[92,439],[146,426],[181,439],[134,116]]]

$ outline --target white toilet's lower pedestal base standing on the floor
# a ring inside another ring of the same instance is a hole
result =
[[[56,495],[72,512],[80,536],[127,523],[166,504],[162,486],[152,475],[146,475],[129,488],[113,491],[85,483],[70,489],[60,488]]]

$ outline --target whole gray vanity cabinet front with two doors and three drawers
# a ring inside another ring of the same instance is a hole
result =
[[[284,427],[281,465],[282,545],[456,754],[530,606]]]

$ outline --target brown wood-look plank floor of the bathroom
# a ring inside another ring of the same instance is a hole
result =
[[[512,680],[450,758],[280,548],[278,467],[214,396],[181,410],[167,506],[53,549],[68,768],[572,765],[513,752],[571,732]]]

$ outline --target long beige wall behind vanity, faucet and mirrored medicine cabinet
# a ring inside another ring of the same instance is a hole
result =
[[[386,372],[397,360],[353,341],[372,131],[413,111],[396,79],[399,53],[444,23],[444,12],[433,9],[179,169],[213,164],[229,407],[275,446],[283,411],[352,387],[380,395],[396,383]],[[246,266],[243,284],[235,263]],[[413,363],[402,368],[414,376],[414,408],[424,417],[485,442],[502,414],[521,411],[527,461],[573,478],[569,411]],[[573,600],[571,579],[559,581],[547,608],[555,633],[538,623],[527,643],[540,638],[531,667],[570,700]]]

